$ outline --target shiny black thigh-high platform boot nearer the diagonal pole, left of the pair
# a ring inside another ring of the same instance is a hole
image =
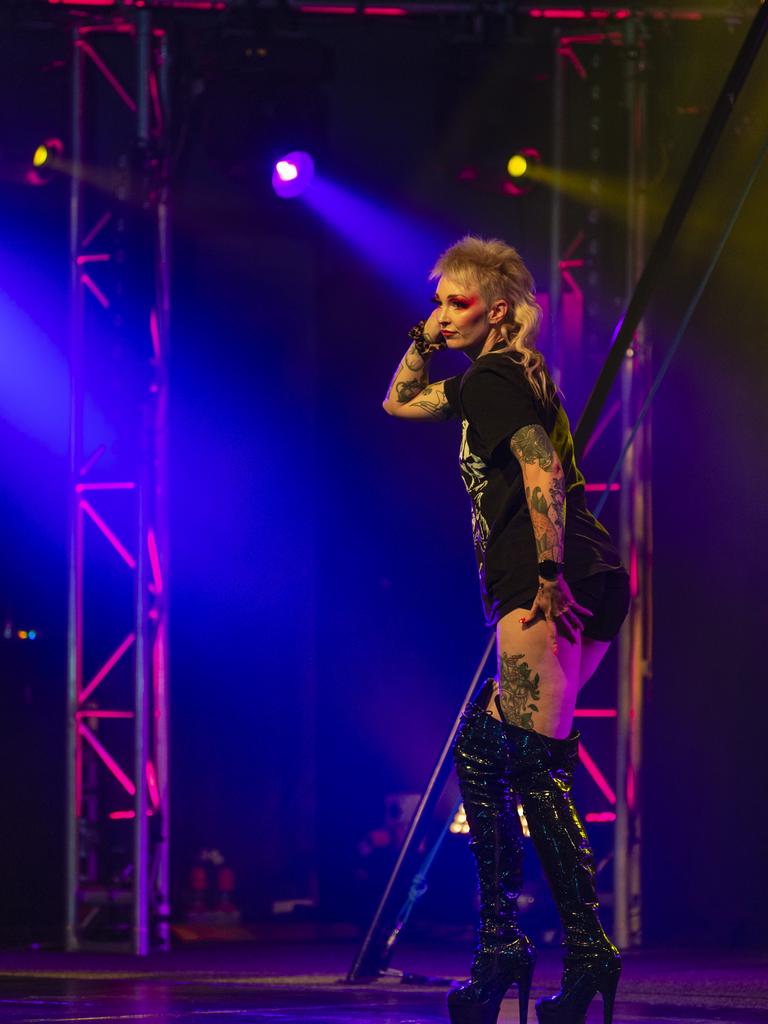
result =
[[[516,984],[520,1021],[527,1021],[536,950],[518,926],[522,835],[509,790],[504,726],[483,709],[494,680],[465,711],[454,746],[459,786],[477,863],[480,927],[470,980],[449,993],[452,1024],[496,1024],[507,989]]]

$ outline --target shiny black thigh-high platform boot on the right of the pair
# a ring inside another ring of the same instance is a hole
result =
[[[537,1002],[540,1024],[584,1024],[597,992],[604,1024],[611,1024],[622,961],[598,918],[592,850],[570,800],[579,734],[553,739],[514,725],[505,730],[512,784],[563,927],[562,984],[557,995]]]

